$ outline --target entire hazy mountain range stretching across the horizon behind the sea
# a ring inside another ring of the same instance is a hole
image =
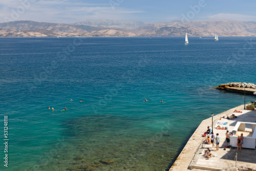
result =
[[[2,37],[47,36],[256,36],[256,22],[198,20],[145,24],[120,20],[84,20],[57,24],[19,20],[0,23]]]

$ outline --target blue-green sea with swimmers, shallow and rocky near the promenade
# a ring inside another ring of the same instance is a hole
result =
[[[184,40],[1,37],[0,170],[168,170],[202,120],[256,99],[214,89],[256,84],[256,37]]]

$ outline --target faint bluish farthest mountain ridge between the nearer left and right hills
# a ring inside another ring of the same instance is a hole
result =
[[[112,19],[98,19],[98,20],[84,20],[81,22],[74,23],[74,25],[87,25],[87,26],[99,26],[99,27],[108,27],[108,28],[124,28],[124,29],[136,29],[145,23],[143,22],[134,22],[134,21],[120,21]]]

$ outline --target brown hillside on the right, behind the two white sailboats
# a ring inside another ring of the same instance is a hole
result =
[[[142,36],[256,36],[256,22],[239,22],[235,20],[200,20],[173,21],[167,23],[152,23],[134,30]]]

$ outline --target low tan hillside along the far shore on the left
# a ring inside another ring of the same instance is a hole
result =
[[[136,36],[131,30],[85,25],[15,21],[0,24],[0,36]]]

